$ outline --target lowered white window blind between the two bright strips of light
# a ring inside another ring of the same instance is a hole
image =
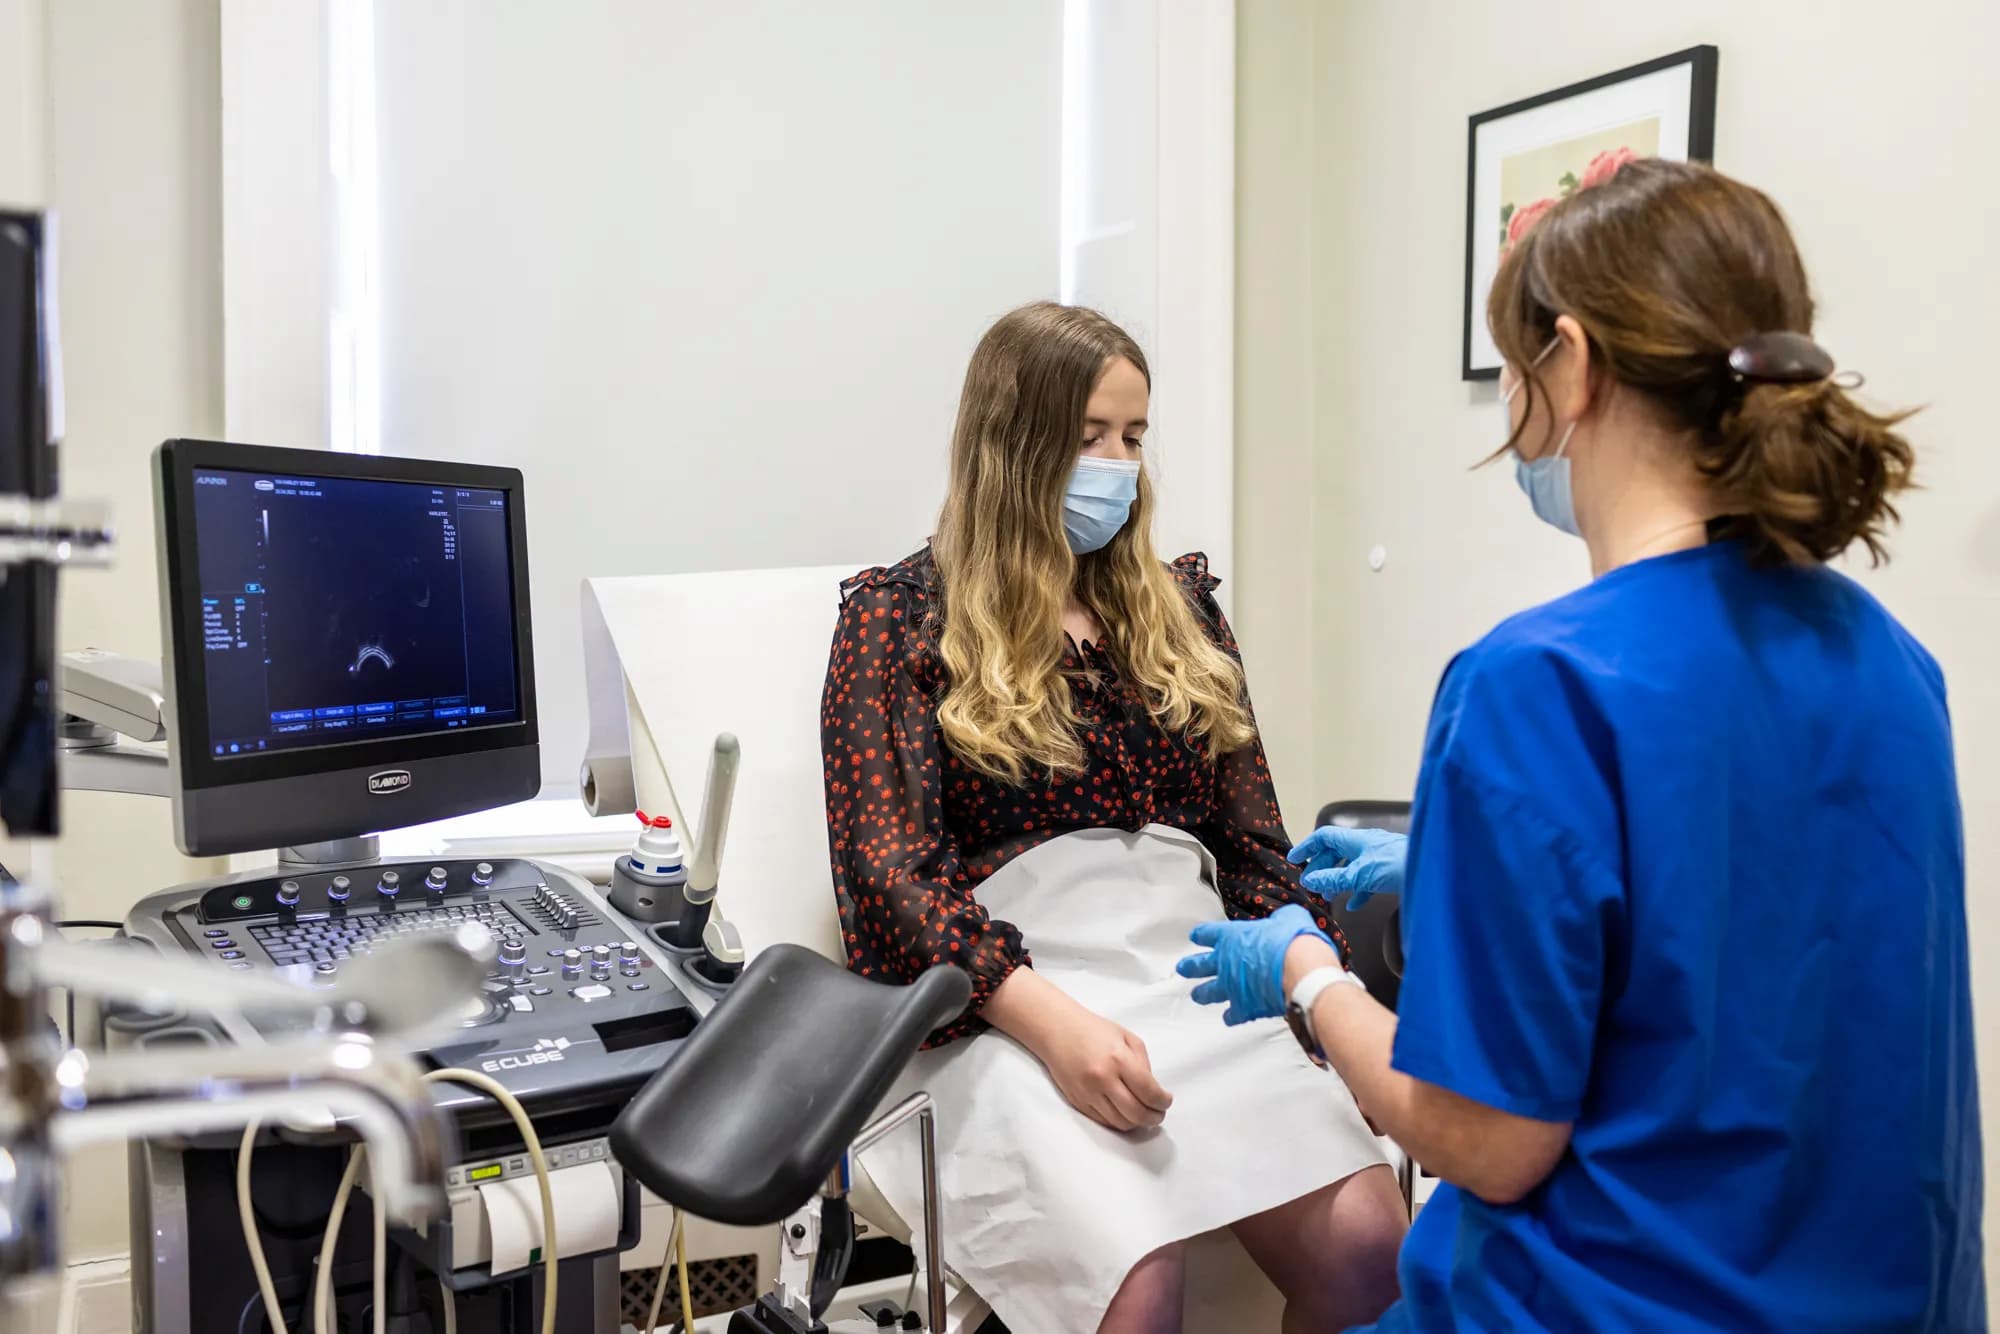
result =
[[[382,448],[526,474],[572,784],[580,580],[922,544],[972,340],[1054,296],[1060,6],[426,0],[376,34]]]

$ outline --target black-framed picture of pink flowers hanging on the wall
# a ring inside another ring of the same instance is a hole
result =
[[[1716,152],[1716,48],[1588,78],[1472,116],[1466,148],[1466,380],[1496,380],[1486,292],[1534,220],[1634,154],[1708,162]]]

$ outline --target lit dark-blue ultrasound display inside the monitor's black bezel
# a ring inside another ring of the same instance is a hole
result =
[[[506,494],[194,474],[210,752],[520,720]]]

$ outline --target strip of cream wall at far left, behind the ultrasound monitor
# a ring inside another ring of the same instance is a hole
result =
[[[62,486],[118,526],[110,570],[64,576],[62,648],[158,654],[146,458],[222,426],[216,78],[216,0],[0,0],[0,200],[60,220]],[[62,814],[68,916],[216,870],[174,852],[166,802],[66,794]],[[120,1146],[72,1164],[66,1224],[72,1260],[126,1250]]]

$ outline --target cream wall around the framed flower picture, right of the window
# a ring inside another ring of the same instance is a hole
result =
[[[1588,576],[1582,546],[1532,518],[1506,468],[1468,472],[1498,444],[1500,416],[1492,386],[1458,380],[1466,116],[1714,42],[1716,164],[1788,212],[1818,284],[1822,342],[1868,374],[1880,402],[1930,404],[1910,424],[1924,490],[1904,504],[1896,560],[1856,574],[1950,680],[1974,976],[1992,976],[2000,452],[1986,386],[2000,310],[1990,242],[2000,186],[1986,170],[1986,126],[2000,118],[1990,70],[2000,12],[1976,0],[1894,10],[1866,0],[1350,0],[1316,12],[1244,0],[1244,22],[1270,50],[1308,44],[1314,62],[1300,104],[1310,132],[1292,158],[1310,176],[1312,472],[1300,472],[1286,442],[1246,430],[1238,478],[1260,476],[1276,516],[1296,508],[1280,486],[1314,494],[1310,556],[1264,542],[1266,560],[1244,582],[1292,586],[1300,600],[1310,590],[1316,794],[1408,796],[1446,658],[1512,610]],[[1242,204],[1268,214],[1296,198],[1272,186]],[[1284,226],[1262,216],[1244,232]],[[1268,314],[1248,302],[1240,310]],[[1290,364],[1296,310],[1280,302],[1272,318],[1270,330],[1244,322],[1244,360]],[[1296,392],[1280,372],[1262,374]],[[1248,540],[1258,502],[1240,512]],[[1388,548],[1380,574],[1364,562],[1374,544]],[[1270,646],[1260,624],[1256,648],[1268,656]],[[1858,880],[1856,912],[1892,910]],[[1982,986],[1976,1002],[1982,1064],[1996,1070],[2000,986]],[[1992,1180],[2000,1096],[1986,1108]],[[1988,1246],[2000,1246],[2000,1226],[1988,1226]]]

